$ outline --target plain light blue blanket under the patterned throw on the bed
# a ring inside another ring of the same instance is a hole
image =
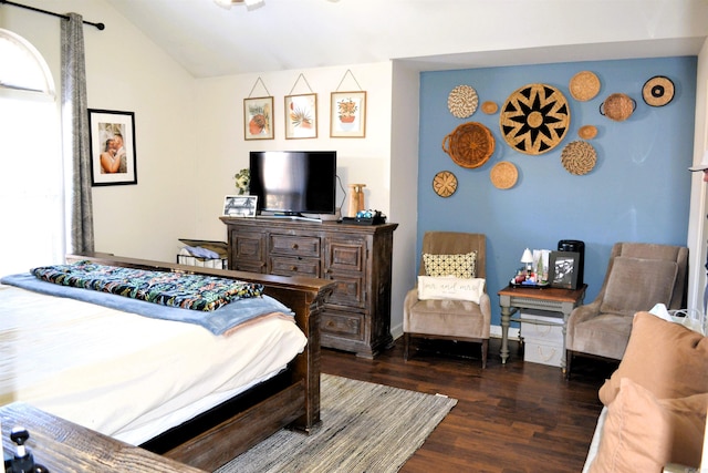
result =
[[[137,313],[153,319],[171,320],[195,323],[209,330],[214,335],[238,327],[257,317],[282,312],[294,316],[293,311],[270,296],[238,299],[212,311],[181,309],[162,306],[107,292],[97,292],[83,288],[60,286],[38,279],[32,274],[18,274],[0,278],[0,282],[48,296],[65,297],[84,302],[96,304],[111,309]]]

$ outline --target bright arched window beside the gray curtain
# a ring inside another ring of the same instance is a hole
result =
[[[0,29],[0,276],[63,260],[61,122],[54,89],[37,49]]]

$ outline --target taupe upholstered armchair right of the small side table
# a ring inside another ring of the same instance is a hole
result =
[[[579,353],[622,360],[635,312],[657,304],[684,308],[688,248],[645,243],[617,243],[595,300],[575,308],[565,336],[566,376]]]

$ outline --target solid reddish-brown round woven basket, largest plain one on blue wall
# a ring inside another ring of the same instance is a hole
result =
[[[481,123],[459,125],[442,140],[445,151],[458,166],[475,168],[485,164],[494,152],[494,136]]]

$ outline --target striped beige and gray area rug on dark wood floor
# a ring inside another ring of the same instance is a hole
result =
[[[322,374],[322,425],[310,435],[281,430],[217,470],[397,472],[456,399]]]

